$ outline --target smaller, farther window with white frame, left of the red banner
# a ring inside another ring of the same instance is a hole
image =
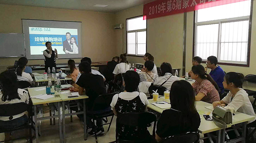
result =
[[[125,21],[126,22],[125,31],[126,31],[126,53],[127,53],[127,56],[144,57],[144,55],[138,55],[137,54],[137,44],[138,44],[137,43],[137,32],[146,31],[146,53],[148,52],[148,20],[146,21],[146,29],[133,30],[133,31],[130,31],[130,32],[127,31],[127,29],[128,29],[127,21],[131,20],[131,19],[139,18],[139,17],[143,17],[143,15],[127,18],[126,21]],[[135,43],[135,52],[136,52],[136,54],[128,54],[127,35],[128,35],[128,33],[132,33],[132,32],[136,32],[136,37],[135,37],[135,39],[136,39],[136,43]]]

